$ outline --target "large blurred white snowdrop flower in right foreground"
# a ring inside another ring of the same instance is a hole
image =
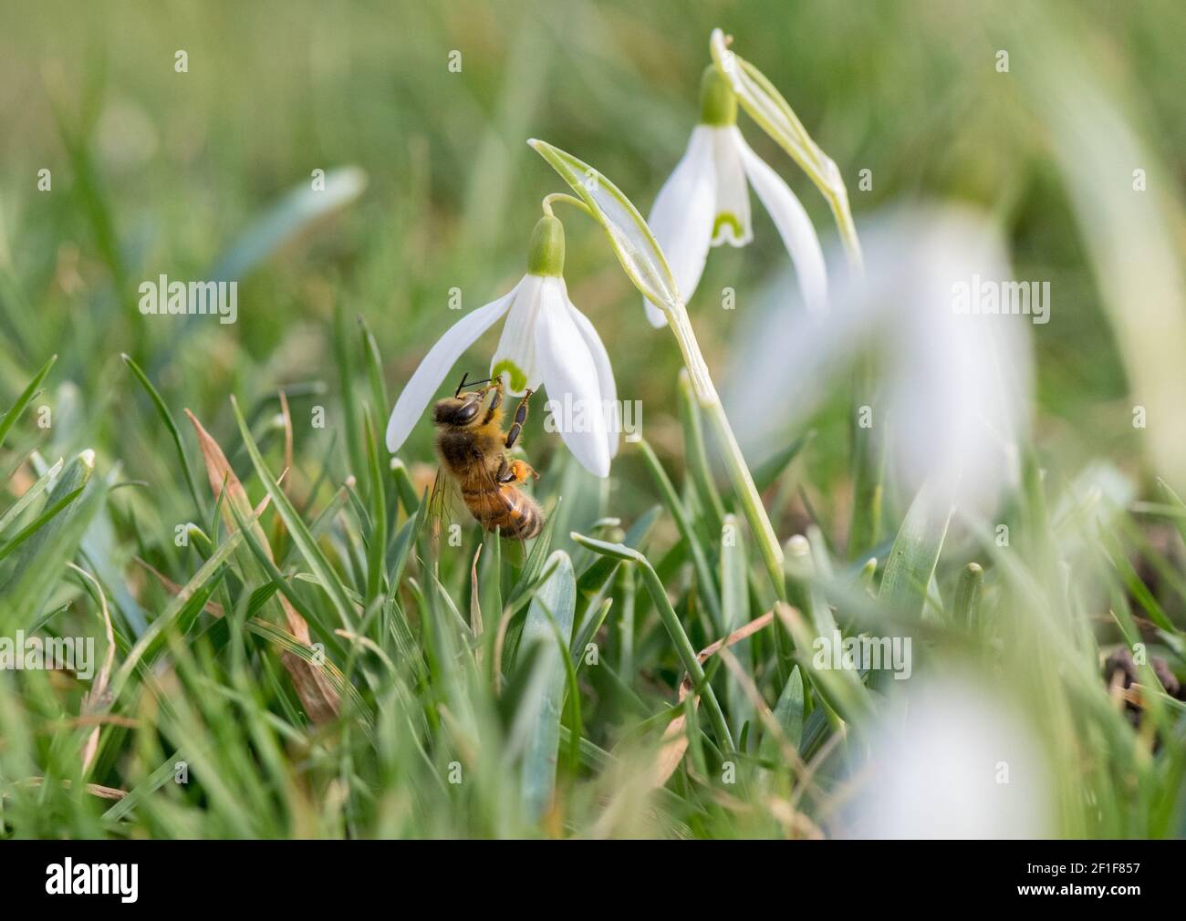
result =
[[[868,422],[890,469],[913,493],[930,482],[964,512],[988,514],[1014,482],[1031,394],[1032,316],[961,313],[957,286],[1012,270],[993,224],[955,207],[910,209],[861,226],[863,281],[847,277],[823,322],[785,308],[771,286],[734,339],[725,395],[741,447],[760,462],[785,443],[865,350],[880,392]]]

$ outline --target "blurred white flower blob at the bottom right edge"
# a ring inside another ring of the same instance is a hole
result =
[[[879,724],[868,778],[844,810],[852,838],[1041,838],[1054,788],[1040,738],[996,690],[968,678],[913,685]]]

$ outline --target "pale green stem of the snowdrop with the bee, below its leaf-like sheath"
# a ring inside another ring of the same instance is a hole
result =
[[[761,504],[761,497],[758,494],[758,487],[754,485],[748,466],[746,466],[741,447],[733,435],[733,427],[729,426],[728,416],[725,415],[725,407],[721,404],[721,397],[713,384],[713,377],[708,372],[708,365],[700,351],[700,343],[696,341],[696,333],[691,328],[691,320],[688,319],[688,309],[683,306],[683,301],[676,301],[667,311],[667,316],[668,325],[680,344],[680,352],[683,354],[683,364],[691,378],[696,402],[700,403],[713,427],[729,480],[733,482],[733,491],[741,503],[746,520],[750,523],[750,530],[753,531],[758,548],[761,550],[761,558],[770,574],[770,581],[773,583],[774,594],[779,601],[786,601],[783,548],[770,524],[770,517],[766,514],[766,507]]]

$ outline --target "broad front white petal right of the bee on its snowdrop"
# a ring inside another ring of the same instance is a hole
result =
[[[544,280],[535,351],[560,437],[585,469],[608,477],[610,441],[597,363],[568,311],[560,279]]]

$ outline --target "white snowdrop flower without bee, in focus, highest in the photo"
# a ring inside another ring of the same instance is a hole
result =
[[[648,218],[684,301],[691,300],[710,247],[753,239],[750,186],[774,222],[795,263],[803,302],[816,316],[828,298],[823,251],[799,199],[746,143],[737,127],[737,96],[709,65],[700,94],[700,124],[688,151],[659,190]],[[644,300],[646,318],[662,327],[662,311]]]

